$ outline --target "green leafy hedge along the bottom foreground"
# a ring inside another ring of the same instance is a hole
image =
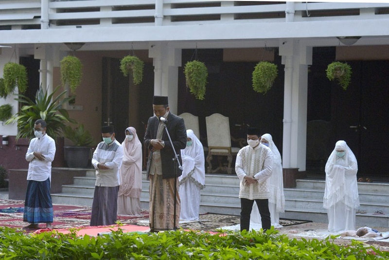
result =
[[[353,241],[351,245],[334,243],[335,237],[322,241],[289,239],[274,229],[262,232],[233,232],[225,235],[204,231],[167,231],[158,234],[114,231],[104,237],[77,237],[44,232],[23,234],[8,227],[0,228],[0,259],[388,259],[388,252]]]

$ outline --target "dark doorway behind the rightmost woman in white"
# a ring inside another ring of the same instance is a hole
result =
[[[358,161],[358,177],[388,180],[389,61],[347,61],[352,80],[347,90],[325,75],[335,47],[314,48],[308,74],[306,171],[325,177],[324,167],[338,140]]]

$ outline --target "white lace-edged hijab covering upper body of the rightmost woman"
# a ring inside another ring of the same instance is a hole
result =
[[[344,150],[346,153],[338,157],[336,150]],[[352,208],[359,207],[357,171],[358,165],[353,151],[345,141],[337,141],[325,165],[324,208],[329,208],[340,201]]]

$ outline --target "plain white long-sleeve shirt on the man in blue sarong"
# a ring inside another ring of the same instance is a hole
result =
[[[40,152],[45,157],[43,161],[35,158],[34,152]],[[55,155],[55,141],[47,134],[31,140],[26,153],[28,165],[27,180],[43,182],[52,178],[52,162]]]

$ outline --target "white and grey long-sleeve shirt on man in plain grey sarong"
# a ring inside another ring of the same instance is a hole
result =
[[[120,185],[119,169],[123,161],[123,147],[116,139],[107,145],[101,142],[93,152],[92,165],[96,169],[96,186],[115,187]],[[97,164],[104,163],[109,169],[101,170]]]

